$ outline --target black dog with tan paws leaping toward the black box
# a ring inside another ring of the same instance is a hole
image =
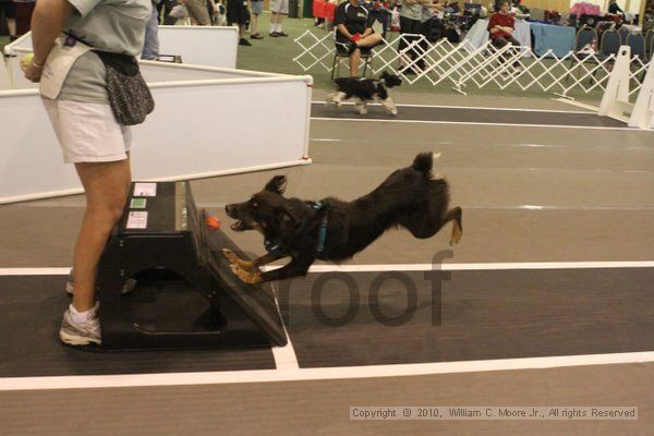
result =
[[[458,243],[461,208],[448,209],[449,185],[445,179],[434,178],[433,160],[429,153],[417,155],[411,167],[395,171],[373,192],[353,202],[286,198],[286,177],[274,177],[250,201],[226,206],[227,215],[237,219],[231,229],[261,231],[268,251],[247,262],[226,250],[231,269],[247,283],[303,276],[316,259],[350,258],[398,226],[426,239],[453,221],[450,245]],[[266,272],[258,269],[281,257],[291,257],[291,262]]]

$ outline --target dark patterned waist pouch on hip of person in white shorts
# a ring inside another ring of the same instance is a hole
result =
[[[133,56],[93,50],[107,69],[111,110],[123,125],[141,124],[155,109],[155,100]]]

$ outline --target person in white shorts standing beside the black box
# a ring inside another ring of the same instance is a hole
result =
[[[120,59],[137,71],[134,57],[143,49],[152,8],[150,0],[39,0],[32,17],[34,58],[22,68],[27,80],[41,82],[64,162],[75,166],[86,196],[73,254],[73,302],[59,330],[71,346],[101,343],[96,270],[132,181],[134,141],[109,102],[105,60]]]

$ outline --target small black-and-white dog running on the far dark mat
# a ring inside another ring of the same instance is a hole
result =
[[[337,93],[327,96],[327,102],[334,102],[340,108],[343,100],[355,98],[355,107],[359,114],[367,113],[367,104],[371,101],[379,101],[384,109],[393,116],[398,114],[398,109],[388,95],[388,88],[400,86],[402,80],[395,75],[388,74],[386,71],[382,73],[378,80],[375,78],[359,78],[359,77],[338,77],[336,83]]]

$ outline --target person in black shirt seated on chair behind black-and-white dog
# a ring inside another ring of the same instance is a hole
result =
[[[350,74],[356,77],[361,52],[370,52],[382,40],[382,35],[373,31],[374,19],[360,0],[348,0],[336,8],[336,49],[350,55]]]

